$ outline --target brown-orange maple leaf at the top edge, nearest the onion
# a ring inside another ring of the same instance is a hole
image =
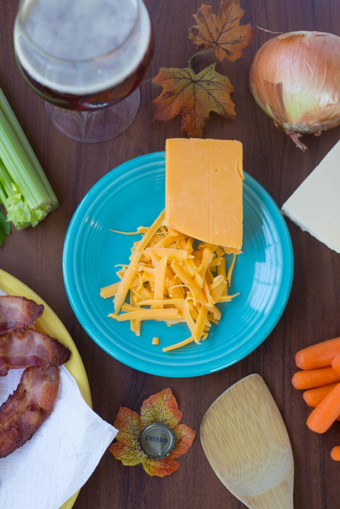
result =
[[[211,6],[202,4],[194,14],[197,24],[190,27],[189,39],[198,49],[213,48],[220,61],[227,58],[233,62],[244,56],[242,50],[255,35],[250,24],[240,26],[243,14],[239,0],[222,0],[218,15]]]

